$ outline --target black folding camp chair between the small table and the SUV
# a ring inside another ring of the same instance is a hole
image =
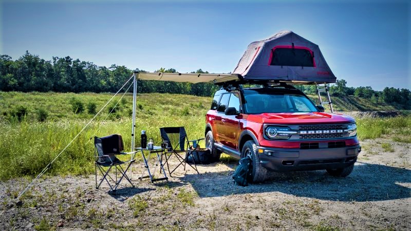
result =
[[[180,165],[184,165],[185,170],[185,164],[189,164],[194,170],[197,171],[197,174],[200,174],[197,170],[196,163],[194,162],[193,166],[191,163],[188,163],[187,160],[190,156],[194,159],[193,152],[199,148],[198,142],[200,140],[204,140],[204,138],[189,140],[187,133],[185,133],[184,127],[162,127],[160,128],[160,134],[161,140],[169,143],[169,147],[165,153],[165,163],[167,164],[167,169],[169,169],[170,176]],[[180,156],[181,153],[184,154],[184,158]],[[180,163],[177,167],[170,171],[169,159],[173,154],[177,157]]]

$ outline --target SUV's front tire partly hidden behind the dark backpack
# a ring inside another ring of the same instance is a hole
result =
[[[267,177],[267,169],[261,166],[257,146],[255,145],[254,141],[251,140],[247,141],[241,149],[241,158],[244,158],[248,155],[250,155],[251,159],[253,160],[252,173],[250,179],[248,180],[250,180],[251,183],[263,182]]]

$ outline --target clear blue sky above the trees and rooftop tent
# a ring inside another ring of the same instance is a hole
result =
[[[407,1],[222,2],[3,1],[0,53],[221,73],[249,43],[289,29],[349,86],[411,88]]]

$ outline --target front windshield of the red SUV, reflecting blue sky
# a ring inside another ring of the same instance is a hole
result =
[[[249,114],[267,112],[313,112],[317,107],[304,95],[277,92],[245,93],[245,109]]]

